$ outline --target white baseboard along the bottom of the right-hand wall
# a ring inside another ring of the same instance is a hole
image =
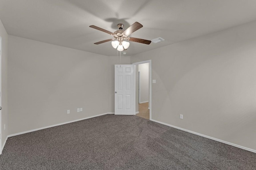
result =
[[[254,150],[254,149],[242,147],[242,146],[236,145],[236,144],[234,144],[234,143],[222,141],[222,140],[220,140],[220,139],[216,139],[216,138],[213,138],[213,137],[209,137],[209,136],[206,136],[206,135],[202,135],[202,134],[200,134],[200,133],[196,133],[196,132],[193,132],[193,131],[189,131],[189,130],[186,130],[186,129],[182,129],[182,128],[180,128],[180,127],[176,127],[176,126],[173,126],[173,125],[169,125],[169,124],[167,124],[167,123],[163,123],[163,122],[156,121],[156,120],[153,120],[153,119],[151,119],[151,121],[154,121],[154,122],[156,122],[156,123],[161,123],[161,124],[166,125],[166,126],[174,127],[174,128],[176,128],[176,129],[180,129],[180,130],[182,130],[182,131],[186,131],[186,132],[189,132],[189,133],[193,133],[193,134],[195,134],[195,135],[199,135],[199,136],[202,136],[202,137],[206,137],[206,138],[212,139],[212,140],[214,140],[214,141],[218,141],[218,142],[221,142],[221,143],[225,143],[225,144],[231,145],[231,146],[233,146],[233,147],[238,147],[238,148],[241,148],[241,149],[248,150],[248,151],[251,151],[251,152],[256,153],[256,150]]]

